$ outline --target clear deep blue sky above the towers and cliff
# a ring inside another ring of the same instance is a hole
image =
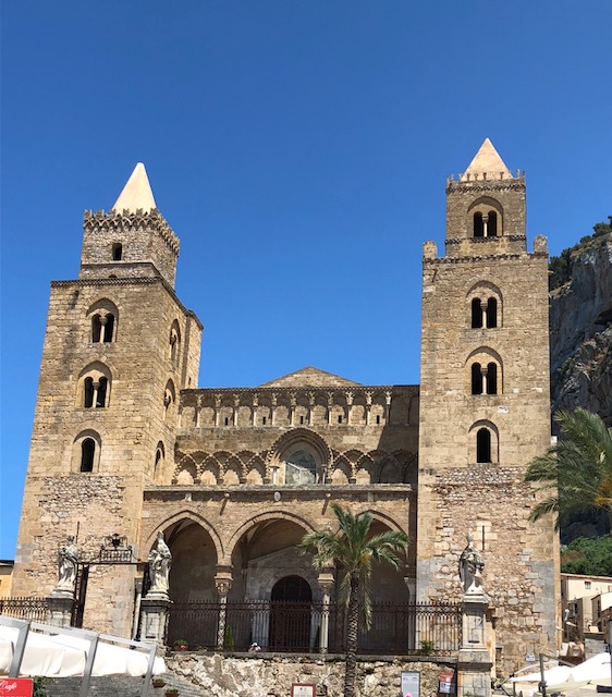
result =
[[[49,282],[144,161],[200,386],[418,382],[420,250],[486,136],[529,246],[612,213],[612,2],[2,3],[2,491],[14,554]]]

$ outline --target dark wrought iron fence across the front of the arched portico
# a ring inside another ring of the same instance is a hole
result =
[[[247,651],[257,643],[262,650],[296,653],[318,652],[325,614],[329,623],[330,653],[345,650],[346,614],[344,607],[317,602],[216,601],[175,602],[170,607],[167,644],[179,639],[189,648],[215,649],[223,625],[223,648]],[[360,655],[449,656],[461,646],[461,606],[393,604],[372,606],[371,627],[360,628]]]

